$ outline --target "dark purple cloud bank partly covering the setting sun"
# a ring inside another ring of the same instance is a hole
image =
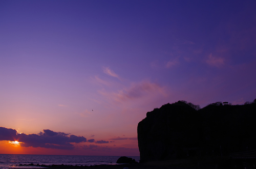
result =
[[[38,134],[17,133],[15,129],[0,127],[0,140],[20,142],[22,147],[42,147],[53,149],[74,149],[71,143],[87,142],[83,136],[70,135],[63,132],[54,132],[46,129]]]

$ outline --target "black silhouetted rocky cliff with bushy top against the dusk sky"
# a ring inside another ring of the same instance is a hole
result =
[[[147,112],[138,124],[140,162],[228,156],[256,149],[256,99],[201,108],[178,101]]]

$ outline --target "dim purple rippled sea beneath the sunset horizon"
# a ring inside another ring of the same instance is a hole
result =
[[[81,156],[81,155],[25,155],[25,154],[0,154],[0,169],[6,168],[42,168],[41,166],[17,166],[19,164],[39,165],[100,165],[117,164],[120,156]],[[139,162],[139,156],[127,156]]]

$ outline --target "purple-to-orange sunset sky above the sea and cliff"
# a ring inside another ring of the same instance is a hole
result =
[[[253,101],[255,9],[0,0],[0,153],[139,156],[147,111]]]

